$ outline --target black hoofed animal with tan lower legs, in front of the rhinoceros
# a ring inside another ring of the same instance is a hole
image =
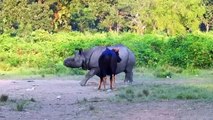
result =
[[[115,84],[115,74],[117,69],[117,63],[121,62],[119,56],[119,49],[114,48],[110,50],[106,48],[102,52],[101,56],[98,59],[99,69],[100,69],[100,83],[98,89],[101,89],[101,84],[104,84],[104,89],[106,89],[106,80],[107,75],[110,76],[110,89],[113,89],[113,83]]]

